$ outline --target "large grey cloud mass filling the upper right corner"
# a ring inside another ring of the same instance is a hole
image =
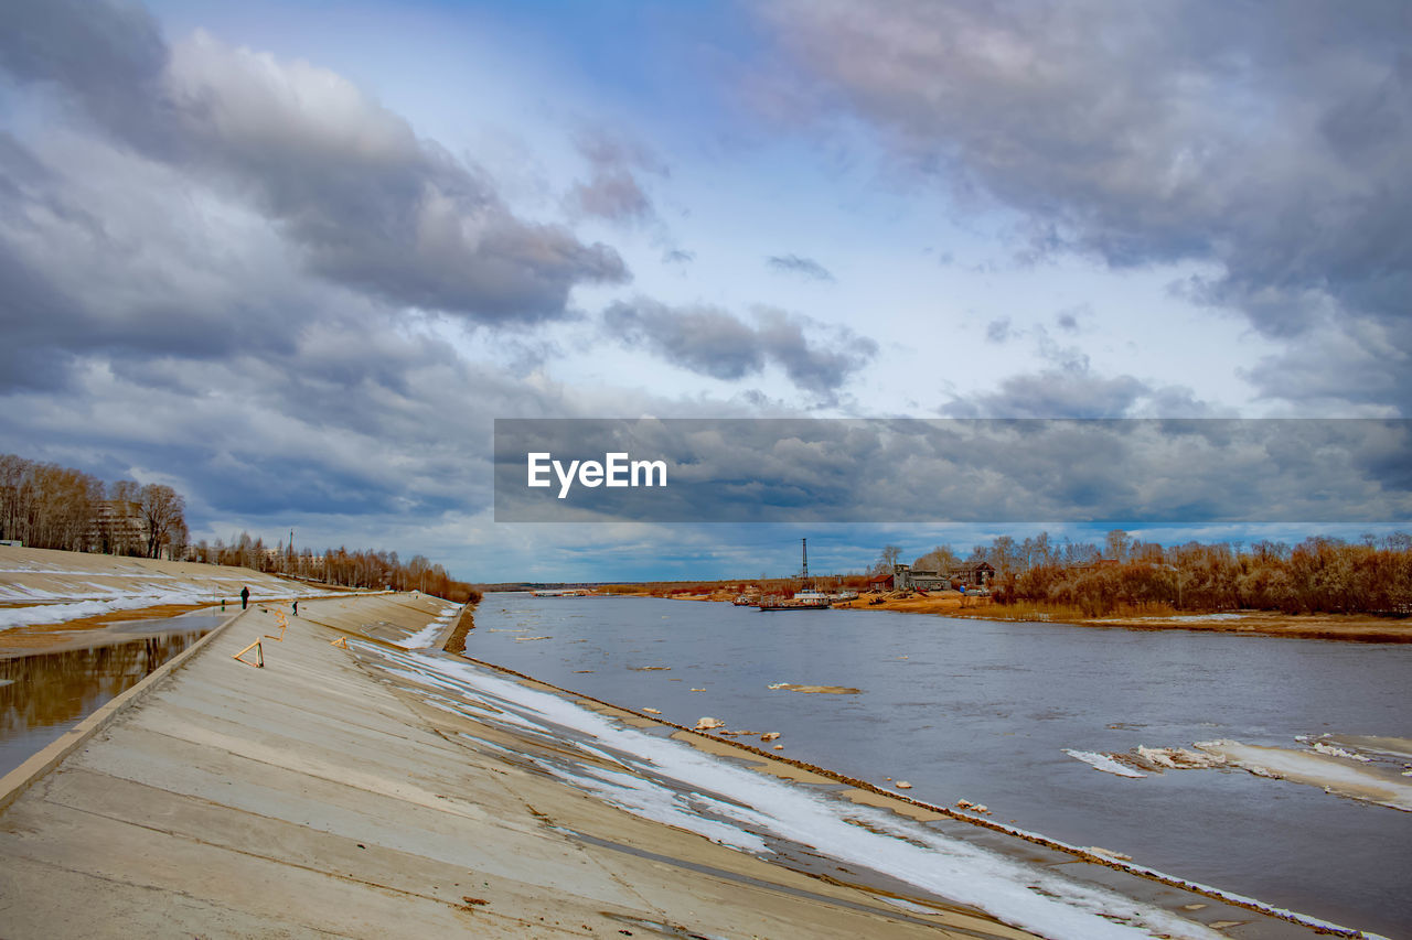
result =
[[[911,167],[1018,209],[1034,251],[1210,263],[1182,291],[1267,336],[1367,322],[1409,347],[1405,3],[764,10],[796,100],[846,102]],[[1370,364],[1412,408],[1406,370]]]

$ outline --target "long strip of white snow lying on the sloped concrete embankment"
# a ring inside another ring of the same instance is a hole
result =
[[[779,840],[868,868],[923,893],[971,905],[1046,937],[1202,937],[1221,934],[1158,906],[1052,868],[945,836],[914,820],[805,788],[647,730],[623,725],[573,701],[472,663],[366,644],[388,672],[419,683],[439,707],[477,703],[467,717],[507,731],[531,725],[555,740],[520,755],[565,783],[630,813],[755,854]],[[486,709],[487,713],[481,713]],[[453,709],[455,710],[455,709]],[[572,755],[578,749],[582,761]],[[604,766],[611,755],[616,766]]]

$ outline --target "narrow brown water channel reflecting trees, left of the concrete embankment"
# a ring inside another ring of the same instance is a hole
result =
[[[92,646],[0,659],[0,775],[24,764],[222,620],[195,615],[130,621],[102,631],[102,642]]]

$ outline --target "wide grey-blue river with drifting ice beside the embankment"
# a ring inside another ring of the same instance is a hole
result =
[[[1408,645],[490,594],[466,655],[678,724],[778,731],[786,757],[907,781],[923,802],[984,803],[1066,843],[1412,936],[1412,813],[1238,769],[1123,778],[1066,752],[1408,738]]]

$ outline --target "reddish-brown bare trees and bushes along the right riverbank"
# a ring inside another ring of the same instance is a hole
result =
[[[956,558],[939,546],[918,566]],[[1114,529],[1101,549],[1056,543],[1042,532],[1022,542],[1001,536],[976,546],[970,558],[995,567],[1000,603],[1077,607],[1089,617],[1147,605],[1202,613],[1412,613],[1412,535],[1402,532],[1357,542],[1313,536],[1293,546],[1268,541],[1163,546]]]

